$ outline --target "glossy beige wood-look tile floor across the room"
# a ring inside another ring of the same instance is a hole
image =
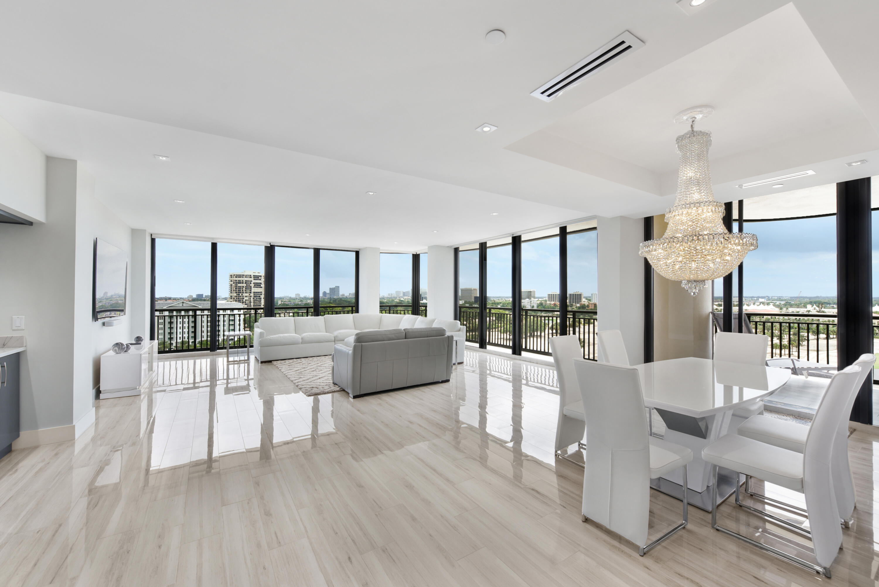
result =
[[[468,352],[447,384],[307,398],[271,364],[163,357],[141,397],[98,402],[75,443],[0,459],[0,585],[806,585],[713,531],[645,557],[580,521],[554,459],[555,373]],[[879,436],[855,432],[859,508],[832,584],[873,585]],[[651,536],[679,502],[651,492]],[[811,556],[729,501],[724,525]]]

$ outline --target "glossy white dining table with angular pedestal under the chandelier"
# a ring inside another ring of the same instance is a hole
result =
[[[711,503],[711,465],[702,459],[702,449],[734,433],[730,431],[733,411],[779,390],[788,383],[790,370],[698,357],[643,363],[636,368],[644,406],[655,409],[665,422],[665,440],[693,451],[693,461],[687,466],[687,502],[713,510],[735,491],[737,474],[720,468],[717,502]],[[651,480],[650,486],[681,499],[682,482],[677,469]]]

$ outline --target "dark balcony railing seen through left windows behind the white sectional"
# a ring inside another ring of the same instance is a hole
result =
[[[217,310],[217,349],[226,348],[225,334],[248,330],[263,317],[264,310],[259,307],[220,308]],[[352,314],[354,305],[321,306],[321,316],[327,314]],[[310,305],[276,306],[277,317],[313,316]],[[156,340],[159,353],[179,353],[211,349],[213,337],[211,312],[208,308],[162,308],[156,309]],[[239,336],[229,345],[231,349],[243,349],[245,338]],[[252,344],[252,341],[251,341]]]

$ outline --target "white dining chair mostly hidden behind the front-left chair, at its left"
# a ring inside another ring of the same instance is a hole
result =
[[[577,375],[574,373],[574,359],[583,357],[583,348],[577,335],[568,335],[550,338],[549,349],[552,350],[552,360],[556,363],[559,392],[556,455],[583,466],[583,463],[560,452],[574,443],[585,446],[583,434],[586,429],[586,416],[583,412],[583,399],[577,386]]]

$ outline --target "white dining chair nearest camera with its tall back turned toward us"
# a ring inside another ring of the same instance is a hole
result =
[[[583,521],[592,519],[638,545],[642,556],[686,527],[683,521],[647,543],[650,480],[683,468],[693,451],[647,434],[641,379],[635,367],[574,360],[586,415]]]

